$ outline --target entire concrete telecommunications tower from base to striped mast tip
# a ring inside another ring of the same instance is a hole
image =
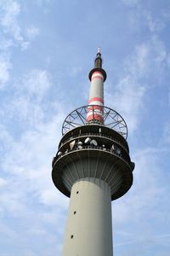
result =
[[[88,106],[71,112],[52,162],[54,185],[71,197],[63,256],[112,256],[111,200],[133,183],[127,125],[104,106],[105,70],[100,50],[89,73]]]

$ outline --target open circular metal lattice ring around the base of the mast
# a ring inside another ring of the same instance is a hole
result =
[[[80,108],[77,108],[73,110],[66,118],[62,126],[62,135],[65,135],[67,131],[70,131],[71,129],[76,128],[77,126],[82,126],[82,125],[89,125],[87,123],[87,115],[90,112],[95,116],[98,114],[98,109],[96,107],[101,108],[99,105],[87,105],[83,106]],[[127,139],[127,124],[125,120],[122,118],[122,116],[117,113],[115,110],[102,106],[103,110],[103,119],[104,119],[104,124],[99,122],[98,120],[93,119],[91,122],[92,125],[94,124],[99,124],[99,125],[104,125],[106,127],[111,128],[114,131],[117,131]]]

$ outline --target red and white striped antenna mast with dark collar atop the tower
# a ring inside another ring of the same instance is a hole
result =
[[[90,93],[88,105],[88,123],[104,123],[103,107],[104,107],[104,82],[106,79],[105,70],[102,68],[102,58],[100,48],[94,61],[94,68],[89,73]]]

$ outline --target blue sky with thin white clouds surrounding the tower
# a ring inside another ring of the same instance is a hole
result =
[[[114,255],[169,256],[169,27],[167,0],[0,0],[0,256],[60,255],[69,201],[51,160],[98,46],[136,164],[112,202]]]

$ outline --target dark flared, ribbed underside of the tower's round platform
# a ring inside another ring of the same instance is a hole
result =
[[[71,187],[84,177],[96,177],[111,187],[111,200],[130,189],[133,183],[131,167],[119,155],[94,148],[72,151],[54,163],[52,177],[55,186],[65,195],[71,195]]]

